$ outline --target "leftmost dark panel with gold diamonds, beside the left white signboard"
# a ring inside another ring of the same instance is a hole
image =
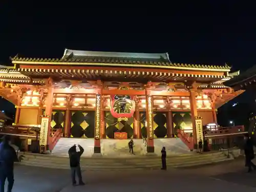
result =
[[[45,115],[45,110],[43,111]],[[52,131],[56,129],[64,129],[65,124],[65,111],[54,110],[52,111],[52,120],[51,120],[51,127]]]

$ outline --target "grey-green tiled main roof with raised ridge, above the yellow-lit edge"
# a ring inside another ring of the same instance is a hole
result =
[[[95,52],[95,51],[76,51],[66,49],[61,58],[28,58],[18,57],[12,58],[14,61],[30,61],[30,62],[80,62],[80,63],[122,63],[122,64],[138,64],[166,67],[185,67],[185,68],[205,68],[229,70],[230,67],[196,65],[186,63],[172,63],[169,60],[168,53],[118,53],[118,52]]]

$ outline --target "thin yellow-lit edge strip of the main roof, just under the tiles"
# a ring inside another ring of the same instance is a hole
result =
[[[14,64],[22,65],[73,65],[73,66],[104,66],[104,67],[133,67],[133,68],[151,68],[151,69],[176,69],[176,70],[191,70],[191,71],[216,71],[229,72],[229,67],[223,66],[208,66],[208,65],[194,65],[183,63],[110,63],[110,62],[78,62],[78,61],[59,61],[49,60],[13,60]]]

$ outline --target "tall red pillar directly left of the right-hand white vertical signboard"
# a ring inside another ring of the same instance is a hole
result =
[[[197,149],[197,128],[196,128],[196,121],[195,117],[198,116],[197,113],[197,92],[194,90],[190,90],[190,109],[191,109],[191,121],[192,121],[192,126],[193,126],[193,140],[194,140],[194,149]]]

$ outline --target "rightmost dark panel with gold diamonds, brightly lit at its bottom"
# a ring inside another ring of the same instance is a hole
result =
[[[174,133],[177,130],[192,129],[191,114],[189,112],[173,112]]]

